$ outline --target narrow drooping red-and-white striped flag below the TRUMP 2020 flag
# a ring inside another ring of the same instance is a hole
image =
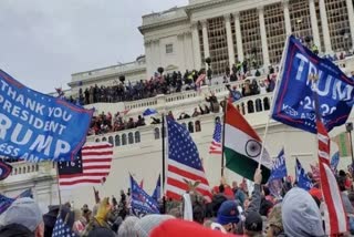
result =
[[[326,234],[335,236],[347,231],[347,219],[336,178],[330,167],[330,137],[321,121],[316,122],[319,140],[320,178],[324,202]]]

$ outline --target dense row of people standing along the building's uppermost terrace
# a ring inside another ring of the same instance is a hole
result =
[[[157,94],[170,94],[178,93],[181,91],[198,90],[200,84],[197,83],[197,79],[200,74],[206,73],[204,69],[197,70],[186,70],[183,74],[180,71],[173,73],[155,73],[149,80],[140,80],[135,82],[125,83],[124,80],[116,81],[115,85],[90,86],[86,89],[80,87],[79,95],[76,97],[70,96],[66,97],[67,101],[81,105],[93,104],[93,103],[116,103],[116,102],[126,102],[126,101],[136,101],[148,97],[154,97]],[[212,74],[206,76],[202,84],[211,85]],[[272,72],[270,72],[272,73]],[[259,76],[261,72],[256,70],[251,73],[247,61],[243,63],[238,63],[232,65],[231,70],[226,69],[222,83],[235,82],[238,80],[243,80],[247,76]],[[215,82],[216,84],[219,82]]]

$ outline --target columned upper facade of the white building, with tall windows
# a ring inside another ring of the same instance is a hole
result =
[[[280,62],[287,35],[310,37],[323,54],[353,49],[352,0],[190,0],[143,17],[146,71],[185,71],[211,59],[215,74],[248,60]]]

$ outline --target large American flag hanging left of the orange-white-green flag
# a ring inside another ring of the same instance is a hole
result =
[[[211,197],[209,183],[206,178],[199,153],[186,127],[167,118],[168,159],[166,195],[180,199],[189,188],[186,181],[200,182],[197,187],[205,197]]]

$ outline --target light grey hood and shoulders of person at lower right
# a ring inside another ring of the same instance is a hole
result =
[[[294,187],[285,195],[281,217],[287,236],[325,236],[320,209],[302,188]]]

